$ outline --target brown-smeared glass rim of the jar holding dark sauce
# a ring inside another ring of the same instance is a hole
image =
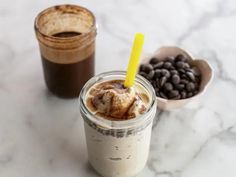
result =
[[[59,8],[66,8],[66,7],[70,7],[70,8],[77,8],[77,9],[82,9],[82,10],[85,10],[86,12],[88,12],[93,21],[92,21],[92,26],[90,27],[90,29],[85,32],[85,33],[82,33],[80,35],[75,35],[75,36],[71,36],[71,37],[57,37],[57,36],[53,36],[53,35],[48,35],[48,34],[45,34],[44,32],[42,32],[42,30],[40,29],[40,26],[39,26],[39,20],[40,18],[46,14],[47,12],[50,12],[52,10],[54,11],[57,11]],[[43,37],[46,37],[46,38],[49,38],[51,40],[64,40],[64,41],[69,41],[69,40],[76,40],[76,39],[80,39],[84,36],[87,36],[88,34],[92,33],[93,31],[96,31],[97,29],[97,25],[96,25],[96,18],[94,16],[94,14],[87,8],[85,7],[82,7],[82,6],[79,6],[79,5],[73,5],[73,4],[61,4],[61,5],[56,5],[56,6],[51,6],[51,7],[48,7],[46,9],[44,9],[43,11],[41,11],[35,18],[35,21],[34,21],[34,28],[35,28],[35,31],[37,33],[39,33],[41,36]]]

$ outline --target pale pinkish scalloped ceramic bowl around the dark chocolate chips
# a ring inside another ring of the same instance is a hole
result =
[[[203,95],[211,83],[213,79],[213,69],[210,66],[210,64],[203,59],[194,59],[191,54],[186,52],[185,50],[179,48],[179,47],[161,47],[157,49],[152,55],[146,56],[141,60],[141,64],[147,64],[149,60],[153,57],[158,58],[160,60],[164,60],[168,56],[177,56],[178,54],[183,54],[187,56],[188,62],[192,66],[196,66],[200,72],[201,72],[201,83],[200,83],[200,89],[198,94],[186,98],[186,99],[180,99],[180,100],[169,100],[164,99],[161,97],[156,97],[157,99],[157,107],[162,110],[171,110],[175,108],[180,108],[181,106],[184,106],[188,102],[196,99],[197,97]]]

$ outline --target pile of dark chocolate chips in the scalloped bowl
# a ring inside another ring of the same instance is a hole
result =
[[[199,91],[201,72],[182,54],[164,60],[151,58],[149,64],[143,64],[139,69],[139,74],[149,80],[158,97],[185,99]]]

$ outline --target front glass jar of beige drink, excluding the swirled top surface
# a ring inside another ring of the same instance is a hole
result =
[[[152,122],[156,113],[153,87],[140,75],[135,78],[148,93],[147,111],[129,120],[108,120],[95,116],[86,107],[86,94],[97,83],[124,80],[126,72],[112,71],[91,78],[79,97],[84,119],[88,158],[93,168],[104,177],[132,177],[140,172],[148,159]]]

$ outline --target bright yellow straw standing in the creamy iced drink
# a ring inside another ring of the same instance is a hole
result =
[[[143,48],[144,35],[137,33],[135,35],[132,52],[129,59],[129,65],[125,78],[125,87],[132,87],[134,85],[135,75],[138,69],[138,62]]]

